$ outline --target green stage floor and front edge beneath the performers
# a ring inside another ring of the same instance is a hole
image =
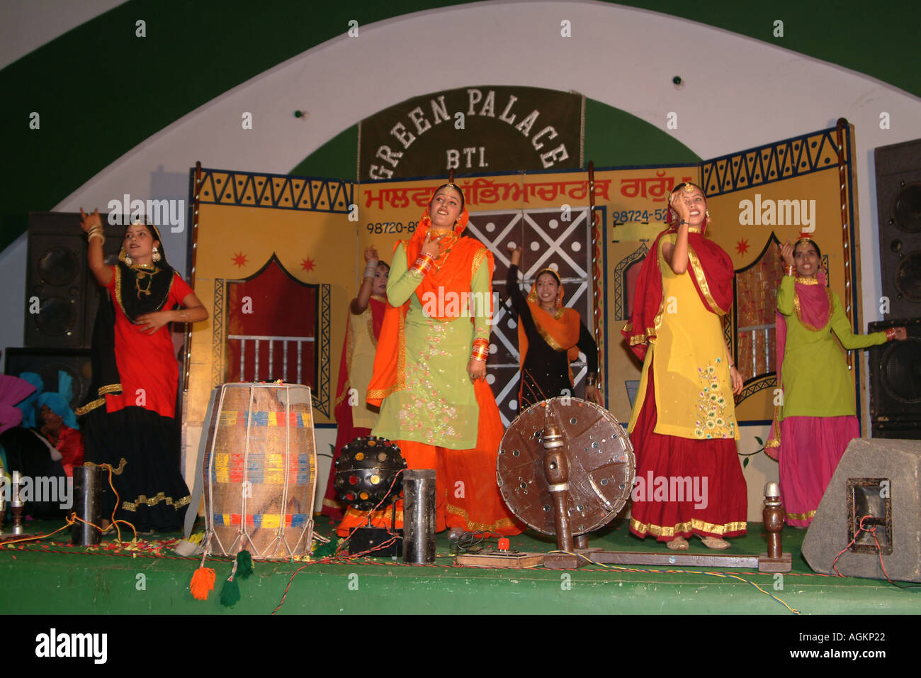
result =
[[[28,528],[49,532],[61,525],[49,521],[29,523]],[[762,525],[750,523],[749,530],[723,553],[764,553]],[[320,517],[317,531],[331,535],[332,525]],[[241,600],[225,608],[217,593],[230,572],[230,561],[209,559],[208,566],[217,573],[216,590],[207,601],[195,601],[188,585],[200,559],[172,554],[168,547],[179,535],[157,535],[134,550],[106,537],[100,548],[86,549],[71,546],[65,536],[69,531],[64,530],[51,539],[0,546],[0,612],[268,614],[282,601],[289,583],[280,614],[792,614],[783,603],[803,614],[921,611],[921,589],[898,589],[885,580],[816,575],[800,555],[805,531],[797,529],[784,531],[784,550],[793,553],[793,571],[782,580],[745,569],[590,565],[560,572],[542,567],[459,567],[453,564],[446,534],[438,537],[436,565],[404,565],[390,558],[258,562],[254,575],[240,581]],[[555,548],[554,541],[531,532],[511,538],[511,544],[526,552]],[[591,536],[589,546],[665,553],[664,544],[630,536],[624,521]],[[699,540],[692,542],[690,553],[707,552]]]

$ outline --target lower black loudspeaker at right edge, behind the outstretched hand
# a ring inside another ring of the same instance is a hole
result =
[[[875,438],[921,439],[921,318],[870,323],[905,327],[908,339],[869,349],[869,411]]]

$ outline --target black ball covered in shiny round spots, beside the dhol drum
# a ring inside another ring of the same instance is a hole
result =
[[[400,447],[387,438],[362,436],[343,447],[336,459],[333,484],[340,501],[358,511],[370,511],[397,500],[402,492],[402,475],[396,482],[393,478],[405,469]]]

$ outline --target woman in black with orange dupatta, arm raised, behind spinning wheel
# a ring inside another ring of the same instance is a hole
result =
[[[511,249],[511,248],[510,248]],[[521,381],[519,409],[546,398],[572,395],[573,374],[569,363],[585,353],[589,371],[585,398],[600,404],[598,393],[598,344],[582,323],[578,311],[563,305],[563,283],[553,268],[538,271],[527,298],[519,289],[521,248],[511,249],[506,280],[508,296],[518,312]]]

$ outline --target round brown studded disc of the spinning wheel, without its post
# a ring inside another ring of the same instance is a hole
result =
[[[531,529],[556,534],[554,498],[542,444],[553,422],[568,465],[566,513],[574,535],[603,527],[624,508],[633,485],[633,445],[611,412],[579,398],[534,403],[508,427],[499,446],[496,475],[508,508]]]

